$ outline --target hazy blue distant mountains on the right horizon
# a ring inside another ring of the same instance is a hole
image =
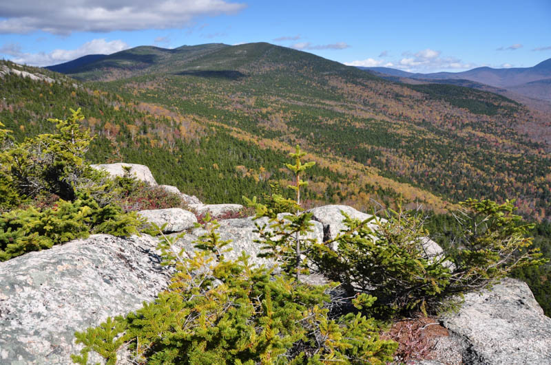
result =
[[[448,83],[444,80],[470,80],[480,84],[490,85],[518,93],[522,96],[539,100],[551,101],[551,58],[534,67],[513,67],[508,69],[493,69],[491,67],[477,67],[462,72],[437,72],[433,74],[419,74],[391,69],[388,67],[359,67],[360,69],[375,71],[388,76],[424,80],[435,83]],[[480,89],[479,85],[472,85]]]

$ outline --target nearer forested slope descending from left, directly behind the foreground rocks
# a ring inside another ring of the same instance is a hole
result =
[[[178,186],[205,203],[242,203],[244,192],[269,193],[270,184],[284,185],[291,175],[281,166],[291,146],[262,140],[198,113],[171,111],[132,96],[83,85],[44,69],[3,62],[10,69],[45,74],[56,82],[4,74],[0,120],[17,140],[50,132],[48,118],[66,118],[69,108],[81,107],[84,126],[95,135],[88,157],[93,162],[134,162],[149,166],[160,184]],[[393,204],[400,191],[406,201],[429,202],[439,210],[448,203],[423,190],[381,177],[360,164],[312,156],[318,166],[307,202],[359,201],[369,209],[370,199]]]

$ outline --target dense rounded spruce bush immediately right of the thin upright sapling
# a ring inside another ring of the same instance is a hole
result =
[[[419,217],[391,211],[388,220],[360,221],[343,215],[347,230],[312,250],[321,272],[351,296],[367,295],[368,303],[376,297],[370,311],[385,318],[437,305],[450,270],[443,265],[445,256],[426,254]],[[330,248],[334,243],[337,250]]]

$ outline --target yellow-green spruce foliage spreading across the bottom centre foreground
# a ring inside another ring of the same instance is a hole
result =
[[[84,345],[74,362],[94,351],[110,363],[129,346],[137,364],[384,364],[397,344],[360,314],[329,318],[329,286],[310,286],[254,267],[243,253],[225,258],[227,241],[207,219],[194,254],[160,243],[176,274],[167,291],[126,318],[76,333]]]

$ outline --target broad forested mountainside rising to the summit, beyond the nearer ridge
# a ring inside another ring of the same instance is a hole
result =
[[[455,85],[399,85],[268,43],[209,48],[180,63],[167,59],[150,65],[147,75],[99,67],[119,80],[94,87],[202,125],[231,126],[240,139],[250,133],[253,140],[298,142],[446,200],[514,198],[526,217],[551,214],[550,146],[524,135],[535,121],[518,102]]]

